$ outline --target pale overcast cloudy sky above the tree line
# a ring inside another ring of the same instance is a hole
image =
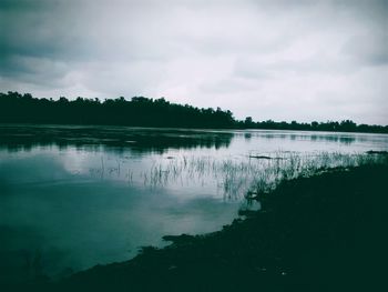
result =
[[[0,91],[388,124],[388,0],[0,0]]]

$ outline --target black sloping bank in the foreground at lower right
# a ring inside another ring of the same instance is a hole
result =
[[[379,291],[387,190],[387,163],[287,181],[219,232],[20,290]]]

